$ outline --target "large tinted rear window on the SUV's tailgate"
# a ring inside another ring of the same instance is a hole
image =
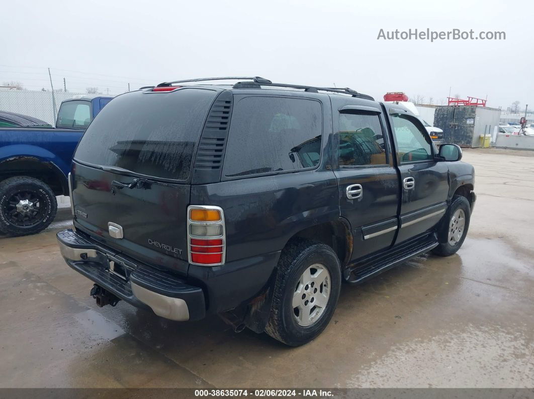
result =
[[[74,158],[142,175],[187,180],[215,95],[215,91],[195,88],[120,95],[95,117]]]

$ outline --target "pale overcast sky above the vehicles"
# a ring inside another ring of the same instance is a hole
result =
[[[534,2],[2,0],[0,84],[116,94],[203,76],[534,109]],[[380,29],[505,31],[506,40],[377,40]],[[60,85],[61,83],[61,85]],[[54,87],[56,88],[56,87]]]

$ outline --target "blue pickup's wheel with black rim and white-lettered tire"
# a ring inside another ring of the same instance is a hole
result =
[[[0,231],[10,235],[38,233],[52,223],[58,204],[50,187],[33,177],[0,182]]]

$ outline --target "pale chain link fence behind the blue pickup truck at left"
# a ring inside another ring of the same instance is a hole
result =
[[[75,95],[85,95],[85,93],[54,92],[53,95],[56,97],[56,111],[58,111],[61,101],[72,99]],[[0,111],[22,113],[23,115],[44,120],[52,126],[56,124],[52,92],[49,91],[0,91]]]

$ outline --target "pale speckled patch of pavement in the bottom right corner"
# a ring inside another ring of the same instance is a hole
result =
[[[398,344],[357,371],[347,387],[533,386],[525,371],[534,344],[524,327],[474,327]],[[431,381],[431,383],[429,383]]]

